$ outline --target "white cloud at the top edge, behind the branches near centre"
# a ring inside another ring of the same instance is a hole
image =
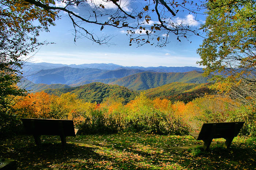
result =
[[[104,5],[105,9],[116,9],[117,6],[112,2],[112,1],[104,1],[104,0],[88,0],[87,3],[91,7],[99,6],[100,4]],[[120,0],[117,1],[117,4],[120,5],[120,7],[125,11],[125,12],[132,12],[132,8],[130,6],[130,0]]]

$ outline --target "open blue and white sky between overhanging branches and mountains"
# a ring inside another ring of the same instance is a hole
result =
[[[97,0],[100,1],[100,0]],[[106,8],[112,7],[105,5]],[[125,7],[127,11],[132,11],[132,6]],[[75,9],[74,12],[82,14],[82,9]],[[151,45],[137,47],[136,44],[129,46],[129,37],[125,29],[113,29],[113,27],[104,27],[100,31],[99,26],[86,24],[86,29],[93,30],[95,33],[113,35],[110,40],[114,45],[98,45],[89,39],[78,39],[74,42],[74,29],[71,20],[67,14],[61,12],[61,19],[56,20],[56,26],[50,26],[49,32],[40,34],[40,41],[54,42],[41,46],[33,54],[30,61],[34,63],[60,63],[60,64],[90,64],[90,63],[113,63],[123,66],[143,66],[143,67],[200,67],[196,61],[200,56],[196,49],[202,44],[203,38],[192,36],[189,41],[181,39],[177,41],[177,35],[170,35],[170,43],[166,47],[159,48]],[[176,22],[187,22],[191,26],[200,26],[204,23],[204,15],[200,16],[199,21],[194,21],[195,14],[178,15]],[[198,16],[197,16],[198,17]],[[149,24],[156,22],[152,18]],[[190,43],[192,41],[192,43]]]

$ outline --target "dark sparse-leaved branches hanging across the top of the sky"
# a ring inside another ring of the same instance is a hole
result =
[[[16,1],[17,2],[17,1]],[[125,29],[132,43],[165,46],[170,34],[177,35],[177,40],[189,35],[199,35],[198,20],[192,14],[199,14],[204,8],[203,1],[194,3],[186,0],[146,0],[136,2],[130,0],[19,0],[20,4],[32,4],[35,8],[48,11],[50,15],[65,12],[74,26],[74,41],[88,38],[98,44],[110,44],[113,35],[103,35],[99,31],[91,31],[91,25],[102,31],[105,27]],[[79,11],[79,13],[78,13]],[[177,14],[187,14],[186,19]],[[179,38],[180,37],[180,38]]]

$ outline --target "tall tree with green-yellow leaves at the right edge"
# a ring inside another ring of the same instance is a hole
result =
[[[244,103],[256,98],[256,2],[216,0],[207,3],[207,38],[197,50],[214,89]]]

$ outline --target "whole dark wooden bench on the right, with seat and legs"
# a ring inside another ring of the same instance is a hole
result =
[[[222,123],[204,123],[199,133],[189,133],[196,140],[204,141],[204,150],[210,147],[212,139],[224,138],[225,148],[228,148],[234,137],[238,135],[244,122],[222,122]]]

